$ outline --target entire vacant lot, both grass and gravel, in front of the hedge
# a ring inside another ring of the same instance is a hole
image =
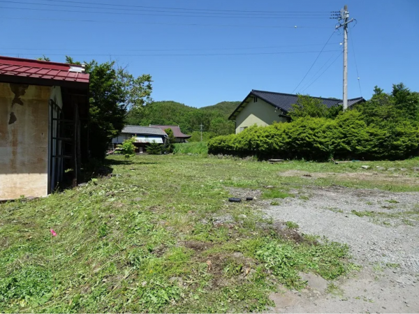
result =
[[[418,312],[418,164],[112,157],[0,205],[0,311]]]

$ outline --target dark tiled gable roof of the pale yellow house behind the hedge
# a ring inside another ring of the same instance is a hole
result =
[[[270,105],[281,110],[284,114],[288,113],[292,109],[293,104],[297,103],[297,100],[298,100],[298,96],[295,94],[275,93],[273,91],[257,91],[255,89],[252,89],[249,95],[246,98],[244,98],[242,103],[238,105],[238,107],[235,109],[235,111],[230,115],[228,119],[234,120],[234,118],[237,117],[237,114],[239,114],[240,111],[242,111],[244,106],[247,105],[247,103],[249,103],[250,97],[252,98],[257,97],[262,100],[265,100],[266,103],[269,103]],[[341,99],[321,98],[321,97],[313,97],[313,98],[322,100],[322,102],[328,108],[333,107],[335,105],[342,104]],[[348,99],[348,106],[355,105],[355,103],[360,103],[362,101],[365,101],[365,99],[362,97]]]

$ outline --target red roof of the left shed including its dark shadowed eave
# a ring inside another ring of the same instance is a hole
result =
[[[89,74],[75,64],[0,56],[0,82],[61,86],[63,82],[89,84]],[[73,84],[74,85],[74,84]]]

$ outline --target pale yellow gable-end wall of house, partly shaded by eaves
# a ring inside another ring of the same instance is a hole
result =
[[[284,122],[286,121],[283,117],[278,117],[281,112],[266,103],[264,100],[258,98],[256,103],[253,103],[253,98],[249,98],[249,103],[237,114],[236,117],[236,134],[242,131],[241,128],[253,126],[269,126],[275,121]]]

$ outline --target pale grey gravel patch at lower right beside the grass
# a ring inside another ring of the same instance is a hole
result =
[[[419,312],[419,193],[304,187],[272,206],[259,190],[230,192],[257,197],[275,223],[293,221],[302,234],[348,244],[351,261],[360,265],[339,281],[301,274],[307,288],[279,287],[270,313]]]

